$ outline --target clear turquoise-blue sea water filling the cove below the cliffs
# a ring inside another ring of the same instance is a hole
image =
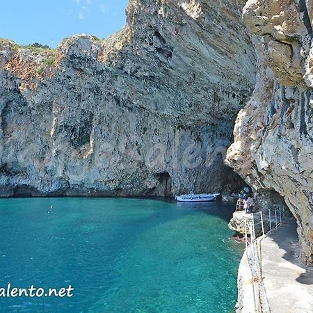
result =
[[[1,199],[0,287],[71,284],[74,296],[0,298],[0,312],[233,312],[242,246],[229,239],[232,208]]]

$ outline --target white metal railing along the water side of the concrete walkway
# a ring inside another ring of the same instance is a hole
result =
[[[245,220],[246,255],[252,275],[255,312],[257,313],[271,312],[262,277],[261,241],[266,234],[274,229],[277,230],[284,221],[283,207],[273,207],[267,211],[252,213],[252,218]]]

